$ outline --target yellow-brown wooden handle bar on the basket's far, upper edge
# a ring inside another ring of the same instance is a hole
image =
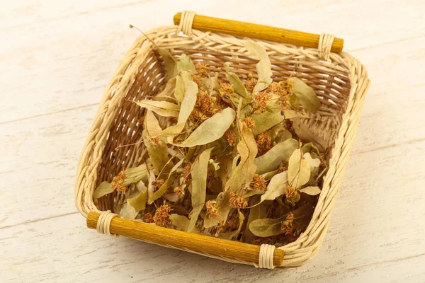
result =
[[[179,25],[180,21],[181,13],[176,13],[174,16],[174,24]],[[320,42],[320,35],[315,35],[314,33],[304,33],[296,30],[287,30],[285,28],[274,28],[268,25],[257,25],[255,23],[244,23],[201,15],[195,15],[192,28],[314,48],[318,48]],[[344,40],[342,38],[334,38],[331,52],[341,53],[343,48]]]

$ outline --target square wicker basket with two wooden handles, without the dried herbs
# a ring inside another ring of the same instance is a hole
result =
[[[174,23],[138,37],[106,88],[79,160],[77,209],[87,218],[89,228],[99,233],[128,236],[255,267],[304,264],[317,253],[327,232],[370,85],[365,68],[341,52],[342,40],[327,34],[312,35],[198,16],[188,11],[177,14]],[[157,47],[169,50],[175,57],[185,53],[193,62],[207,64],[211,73],[217,72],[223,78],[223,64],[232,62],[231,71],[246,79],[248,74],[256,74],[258,62],[244,48],[246,37],[266,48],[275,76],[273,81],[290,76],[300,78],[314,89],[321,101],[319,112],[303,118],[301,123],[307,136],[314,136],[317,143],[328,149],[329,168],[310,224],[300,237],[279,248],[222,240],[121,219],[114,212],[118,212],[123,202],[122,193],[94,199],[99,183],[112,180],[123,166],[130,168],[142,163],[140,118],[144,111],[131,101],[156,95],[166,83],[164,62],[156,52]],[[129,144],[133,145],[123,146]]]

